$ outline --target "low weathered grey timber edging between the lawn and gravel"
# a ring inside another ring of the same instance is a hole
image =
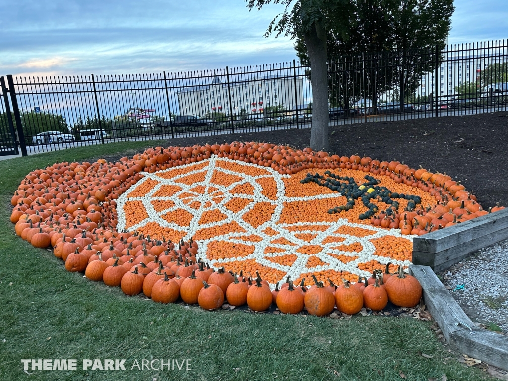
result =
[[[409,271],[420,281],[426,306],[446,340],[467,356],[508,370],[508,337],[474,326],[430,267],[410,265]]]

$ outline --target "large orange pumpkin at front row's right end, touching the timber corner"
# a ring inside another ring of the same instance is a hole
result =
[[[422,286],[412,275],[405,274],[399,267],[399,273],[385,283],[388,299],[399,307],[414,307],[422,298]]]

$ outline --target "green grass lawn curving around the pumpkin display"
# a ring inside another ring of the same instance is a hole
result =
[[[0,162],[0,380],[401,380],[400,372],[408,380],[488,378],[456,361],[460,355],[448,353],[430,323],[417,319],[332,320],[155,304],[69,273],[51,251],[15,235],[10,199],[30,170],[132,154],[146,145],[114,143]],[[29,367],[26,374],[21,359],[77,359],[78,370]],[[125,359],[126,370],[83,370],[83,359]],[[191,369],[131,369],[143,359],[190,359]]]

